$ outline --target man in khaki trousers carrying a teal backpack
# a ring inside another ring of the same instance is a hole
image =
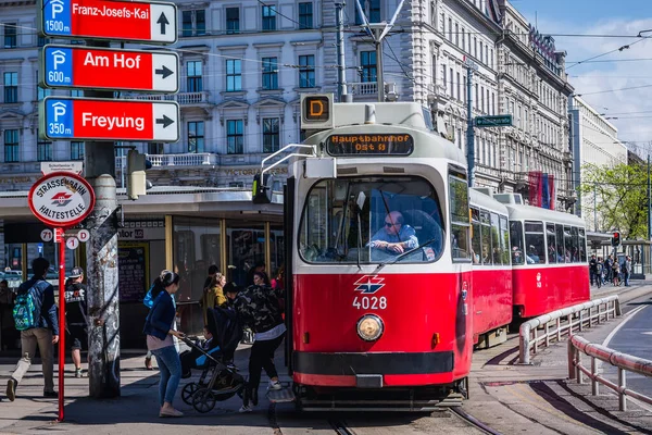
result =
[[[53,345],[59,343],[59,322],[54,288],[45,278],[49,268],[50,263],[45,258],[35,259],[32,262],[32,279],[23,283],[16,295],[13,318],[16,330],[21,332],[23,358],[18,360],[16,370],[7,382],[7,397],[11,401],[14,401],[16,387],[32,365],[36,346],[40,352],[45,377],[43,397],[58,397],[54,390],[52,353]]]

